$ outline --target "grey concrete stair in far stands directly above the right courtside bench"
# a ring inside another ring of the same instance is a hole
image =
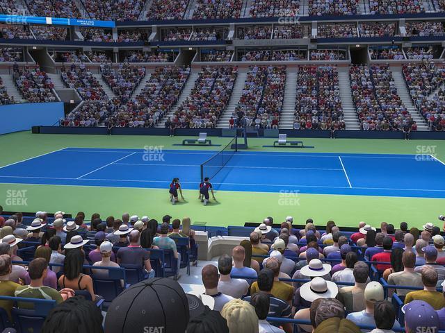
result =
[[[284,85],[283,108],[280,114],[280,128],[291,130],[295,119],[295,102],[297,96],[297,69],[287,68],[286,85]]]

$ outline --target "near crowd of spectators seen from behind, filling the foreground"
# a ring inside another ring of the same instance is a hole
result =
[[[168,316],[165,333],[445,329],[445,239],[430,222],[420,230],[406,222],[397,229],[386,222],[379,229],[359,222],[351,232],[334,221],[322,229],[307,219],[296,228],[292,216],[278,224],[268,216],[257,228],[244,228],[248,237],[225,250],[217,263],[202,267],[202,284],[195,287],[203,293],[197,297],[186,296],[176,282],[179,267],[188,264],[183,255],[197,249],[190,218],[165,215],[158,223],[129,213],[122,219],[95,213],[90,221],[83,212],[70,221],[64,212],[48,215],[37,212],[31,223],[22,213],[0,216],[0,295],[55,300],[42,332],[73,332],[73,325],[88,332],[122,332],[129,321],[132,327],[152,327],[158,311]],[[173,279],[149,280],[165,265],[152,257],[159,250],[172,257]],[[25,255],[29,263],[21,265]],[[124,288],[106,268],[137,268],[142,276]],[[114,280],[120,288],[101,295],[103,284]],[[169,302],[162,303],[166,295]],[[101,312],[96,303],[104,300],[108,309]],[[144,316],[119,315],[131,306],[145,309],[147,302],[151,311]],[[13,307],[33,309],[9,300],[2,307],[10,318]]]

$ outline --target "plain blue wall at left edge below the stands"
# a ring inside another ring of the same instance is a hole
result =
[[[22,103],[0,106],[0,134],[52,126],[63,118],[63,102]]]

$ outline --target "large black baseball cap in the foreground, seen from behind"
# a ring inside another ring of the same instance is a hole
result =
[[[154,278],[133,284],[113,300],[105,332],[183,333],[189,318],[188,298],[179,283]]]

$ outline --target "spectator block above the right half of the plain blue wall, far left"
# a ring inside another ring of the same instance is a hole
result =
[[[56,101],[56,96],[52,92],[54,84],[48,74],[42,71],[40,67],[19,69],[15,65],[13,79],[20,94],[29,103]]]

